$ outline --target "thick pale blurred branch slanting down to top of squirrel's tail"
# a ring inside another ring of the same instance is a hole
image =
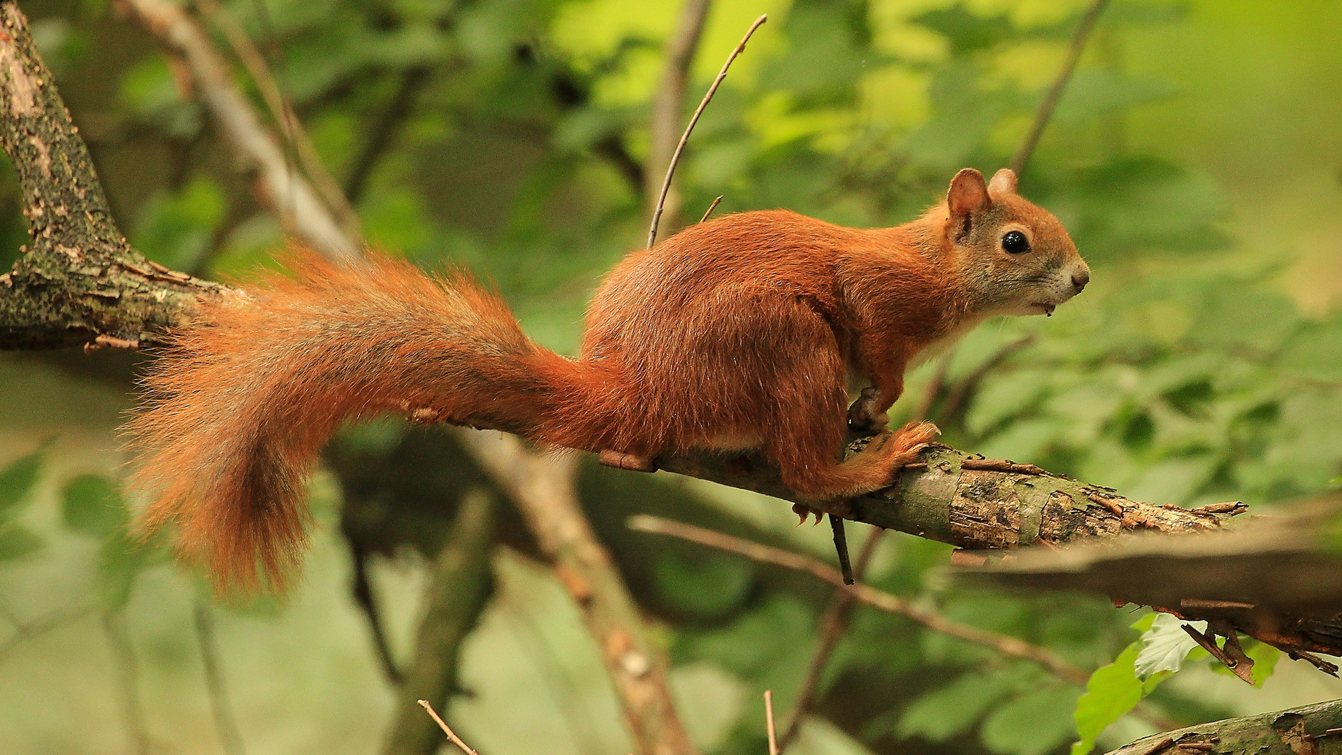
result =
[[[121,3],[160,43],[187,62],[201,101],[234,145],[239,161],[258,172],[256,188],[280,223],[321,254],[334,259],[356,258],[360,253],[357,234],[342,227],[318,200],[311,184],[289,169],[279,144],[234,85],[228,63],[196,21],[166,0]]]

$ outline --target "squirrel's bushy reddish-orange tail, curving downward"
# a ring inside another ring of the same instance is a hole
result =
[[[173,336],[127,426],[132,485],[153,500],[144,531],[174,523],[181,553],[220,587],[283,587],[306,545],[306,473],[345,419],[405,411],[537,435],[574,390],[577,364],[464,274],[287,262],[295,277],[205,304]]]

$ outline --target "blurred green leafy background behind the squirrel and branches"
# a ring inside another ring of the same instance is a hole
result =
[[[153,38],[105,0],[21,7],[132,242],[208,277],[266,265],[279,227]],[[535,339],[576,348],[601,273],[646,235],[648,102],[679,3],[227,7],[374,243],[471,267]],[[687,105],[749,21],[770,20],[695,132],[678,173],[683,211],[663,235],[718,195],[718,214],[911,219],[954,171],[1007,163],[1083,7],[717,0]],[[949,442],[1133,498],[1266,508],[1335,488],[1339,35],[1335,1],[1115,0],[1021,176],[1021,193],[1071,230],[1094,283],[1052,318],[981,326],[910,376],[895,414],[942,375],[964,388],[931,396]],[[5,164],[4,267],[25,239],[19,207]],[[352,429],[313,484],[321,528],[302,584],[280,602],[212,605],[196,576],[119,529],[115,429],[138,364],[0,356],[0,752],[224,752],[220,716],[248,754],[376,751],[395,689],[352,598],[352,553],[366,556],[404,664],[458,498],[494,493],[439,434]],[[832,559],[828,533],[794,528],[778,501],[666,474],[588,469],[581,490],[668,649],[698,746],[764,752],[760,692],[790,709],[829,590],[623,523],[667,513]],[[627,752],[576,609],[515,515],[501,516],[494,592],[464,645],[452,720],[484,755]],[[849,527],[849,541],[866,529]],[[1099,599],[957,588],[947,560],[949,547],[887,535],[871,582],[1087,669],[1135,637],[1133,617]],[[213,699],[205,658],[217,662]],[[859,610],[793,751],[1063,752],[1078,695],[1029,664]],[[1186,724],[1337,697],[1337,680],[1283,660],[1260,688],[1196,665],[1149,703]],[[1100,746],[1150,731],[1125,717]]]

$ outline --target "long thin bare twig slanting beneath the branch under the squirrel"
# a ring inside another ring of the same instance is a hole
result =
[[[733,537],[730,535],[723,535],[702,527],[694,527],[692,524],[683,524],[648,515],[629,517],[629,528],[639,532],[654,532],[658,535],[680,537],[682,540],[690,540],[692,543],[699,543],[701,545],[709,545],[710,548],[739,553],[756,562],[804,571],[847,591],[854,596],[854,599],[862,603],[883,611],[903,615],[933,631],[939,631],[941,634],[946,634],[957,639],[973,642],[974,645],[992,648],[1002,656],[1033,661],[1049,672],[1076,684],[1086,684],[1090,680],[1090,673],[1064,661],[1052,650],[1031,645],[1029,642],[1016,637],[997,634],[996,631],[988,631],[985,629],[947,619],[937,611],[915,605],[913,601],[906,601],[905,598],[891,595],[890,592],[876,590],[875,587],[860,582],[858,584],[844,584],[843,575],[839,574],[839,570],[811,556],[793,553],[772,545],[761,545],[760,543],[752,543],[749,540],[742,540],[739,537]]]

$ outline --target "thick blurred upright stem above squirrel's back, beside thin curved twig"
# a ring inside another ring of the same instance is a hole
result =
[[[676,23],[675,34],[666,44],[666,69],[662,73],[662,83],[658,85],[652,95],[652,120],[648,134],[648,164],[643,172],[644,196],[650,204],[656,207],[659,176],[666,173],[671,164],[671,154],[675,152],[676,133],[680,126],[680,102],[684,99],[684,85],[690,75],[690,66],[694,63],[694,54],[699,48],[699,39],[703,36],[703,23],[709,17],[709,8],[713,0],[684,0],[680,7],[680,20]],[[671,214],[675,215],[674,200]]]

